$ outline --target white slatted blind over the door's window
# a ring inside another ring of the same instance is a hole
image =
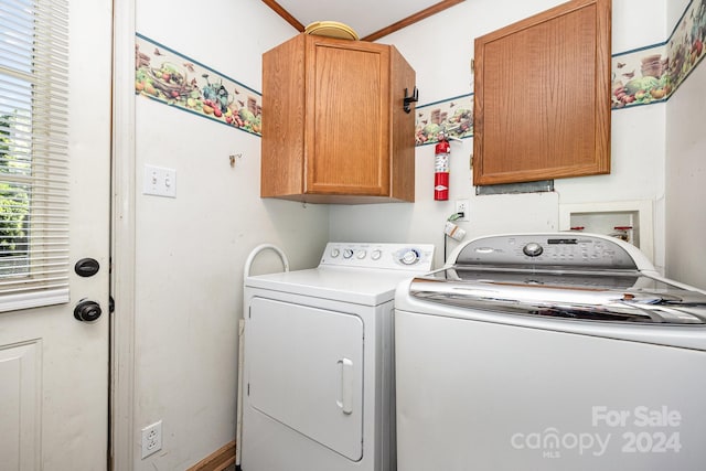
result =
[[[0,0],[0,312],[68,301],[68,6]]]

